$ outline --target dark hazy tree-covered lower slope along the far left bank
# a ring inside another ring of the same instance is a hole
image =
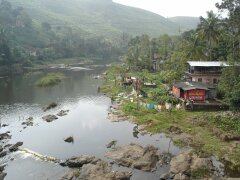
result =
[[[128,35],[124,37],[127,41]],[[23,7],[14,8],[10,2],[0,0],[0,66],[32,66],[72,57],[108,60],[118,57],[125,44],[89,36],[87,30],[75,27],[36,22]]]

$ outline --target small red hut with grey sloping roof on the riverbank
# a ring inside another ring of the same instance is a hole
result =
[[[178,82],[173,84],[172,93],[177,98],[205,101],[209,98],[209,87],[201,82]]]

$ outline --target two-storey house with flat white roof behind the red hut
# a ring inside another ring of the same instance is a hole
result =
[[[188,61],[187,81],[202,82],[216,85],[220,79],[221,71],[229,66],[220,61]]]

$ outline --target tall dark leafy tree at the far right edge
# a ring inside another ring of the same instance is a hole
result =
[[[230,37],[228,51],[230,67],[223,71],[219,89],[224,93],[224,99],[231,108],[240,110],[240,1],[223,0],[216,6],[220,11],[228,12],[225,30]]]

